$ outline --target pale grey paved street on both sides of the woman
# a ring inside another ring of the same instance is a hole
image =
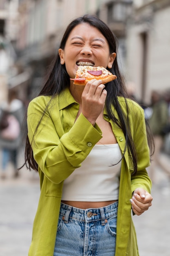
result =
[[[36,173],[24,168],[17,179],[12,174],[9,165],[8,177],[0,180],[0,256],[27,256],[39,180]],[[152,207],[141,216],[133,216],[140,256],[170,256],[170,183],[159,169],[156,177]]]

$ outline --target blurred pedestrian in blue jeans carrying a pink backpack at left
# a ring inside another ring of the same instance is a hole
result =
[[[9,90],[8,101],[4,102],[1,106],[1,178],[6,177],[9,162],[13,165],[13,177],[18,177],[18,152],[21,145],[21,126],[23,117],[24,105],[22,101],[17,99],[15,90]]]

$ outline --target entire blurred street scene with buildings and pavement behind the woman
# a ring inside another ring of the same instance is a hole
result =
[[[170,0],[0,0],[0,119],[8,108],[23,122],[63,31],[86,13],[97,15],[117,36],[129,94],[144,108],[153,131],[160,125],[154,133],[159,152],[154,169],[148,168],[153,206],[134,222],[141,256],[169,256]],[[24,159],[24,125],[19,141],[0,139],[0,256],[28,254],[38,204],[38,175],[25,167],[16,172]]]

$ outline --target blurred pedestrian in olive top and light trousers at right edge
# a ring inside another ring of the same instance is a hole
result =
[[[158,91],[154,90],[151,93],[150,110],[151,114],[148,123],[155,142],[155,152],[150,166],[150,177],[152,182],[155,182],[155,167],[157,165],[170,177],[170,167],[161,158],[161,150],[164,144],[164,128],[169,122],[168,104]]]

